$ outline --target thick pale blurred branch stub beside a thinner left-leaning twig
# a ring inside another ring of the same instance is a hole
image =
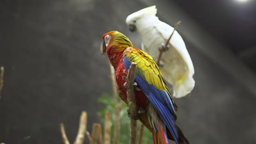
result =
[[[87,126],[87,112],[82,111],[80,116],[78,134],[77,134],[77,137],[75,138],[74,144],[83,144],[84,138],[85,138],[86,126]]]

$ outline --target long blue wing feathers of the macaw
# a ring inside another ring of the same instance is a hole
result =
[[[131,62],[129,59],[125,56],[123,58],[124,66],[126,70],[130,69]],[[139,68],[137,68],[139,69]],[[174,123],[174,106],[172,104],[172,101],[170,99],[170,95],[167,91],[161,91],[155,86],[149,85],[149,83],[143,79],[143,77],[135,74],[135,81],[137,82],[138,86],[141,87],[143,93],[147,96],[150,103],[155,107],[156,111],[158,112],[160,118],[165,122],[167,128],[170,130],[174,140],[176,143],[178,142],[178,133],[175,128]]]

